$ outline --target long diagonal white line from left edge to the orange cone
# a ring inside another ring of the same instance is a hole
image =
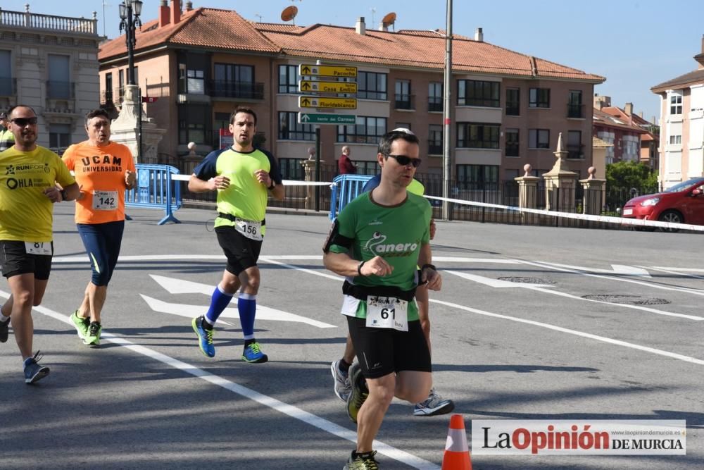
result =
[[[3,292],[0,290],[0,297],[4,297],[7,299],[8,297],[10,297],[10,295],[7,292]],[[48,309],[46,307],[33,307],[33,309],[38,311],[40,314],[49,316],[52,319],[58,321],[63,321],[63,323],[66,323],[68,326],[73,327],[73,323],[71,323],[71,320],[68,316],[59,314],[58,312]],[[241,397],[262,404],[265,407],[274,409],[279,413],[291,416],[291,418],[298,419],[298,421],[302,421],[303,423],[318,428],[321,431],[325,431],[326,433],[335,435],[338,438],[348,440],[351,443],[357,443],[357,433],[355,431],[350,431],[347,428],[343,428],[342,426],[332,423],[332,421],[327,421],[327,419],[323,419],[320,416],[316,416],[315,414],[306,412],[303,409],[294,407],[291,404],[284,403],[280,400],[277,400],[276,398],[269,397],[268,395],[263,395],[262,393],[257,392],[256,390],[252,390],[251,388],[246,388],[242,385],[239,385],[238,383],[228,381],[226,378],[216,376],[213,373],[204,371],[203,369],[199,369],[198,367],[188,364],[187,362],[174,359],[173,357],[167,356],[166,354],[161,354],[161,352],[151,350],[148,347],[134,344],[134,342],[130,340],[120,338],[119,336],[113,335],[112,333],[108,333],[107,330],[103,330],[103,332],[101,333],[101,339],[106,340],[107,342],[112,342],[115,345],[125,347],[132,352],[142,354],[143,356],[154,359],[155,361],[159,361],[167,366],[172,367],[173,369],[178,369],[180,371],[184,371],[185,373],[189,373],[191,376],[200,378],[201,380],[206,381],[208,383],[212,383],[213,385],[218,385],[218,387],[222,387],[225,390],[230,390],[230,392],[234,392],[237,395],[240,395]],[[420,457],[416,457],[415,455],[410,454],[404,450],[400,450],[396,447],[392,447],[391,445],[382,443],[379,440],[374,440],[373,446],[377,450],[377,452],[379,452],[379,454],[386,455],[386,457],[389,457],[390,459],[394,459],[408,466],[412,466],[414,469],[440,470],[440,467],[432,462],[428,462],[427,460],[421,459]]]

